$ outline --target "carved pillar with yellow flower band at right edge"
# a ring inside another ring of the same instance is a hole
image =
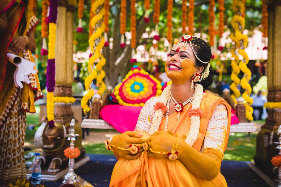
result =
[[[268,4],[268,117],[262,128],[278,129],[281,125],[281,1]]]

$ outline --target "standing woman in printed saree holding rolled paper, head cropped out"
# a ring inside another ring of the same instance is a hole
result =
[[[19,3],[23,6],[23,11],[17,17],[17,25],[11,31],[12,36],[5,51],[34,62],[31,53],[35,52],[36,47],[33,29],[38,20],[28,7],[28,1]],[[6,52],[5,57],[7,59]],[[34,65],[31,65],[31,70]],[[34,102],[43,97],[35,68],[30,72],[24,72],[27,76],[22,86],[16,85],[14,81],[15,70],[15,64],[7,61],[6,66],[1,66],[0,69],[1,72],[5,72],[3,82],[0,84],[0,179],[26,177],[23,152],[26,112],[36,112]]]

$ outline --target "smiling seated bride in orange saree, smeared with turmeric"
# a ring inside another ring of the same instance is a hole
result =
[[[186,35],[170,51],[165,71],[172,80],[150,98],[134,132],[105,141],[118,161],[110,186],[227,186],[220,165],[227,146],[231,107],[212,94],[211,49]]]

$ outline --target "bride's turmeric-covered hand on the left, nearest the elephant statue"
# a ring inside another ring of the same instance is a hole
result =
[[[128,160],[134,160],[137,159],[144,150],[143,150],[143,143],[146,141],[145,138],[142,138],[143,135],[139,134],[139,132],[132,132],[127,131],[120,135],[114,136],[111,140],[111,144],[115,147],[111,147],[111,149],[117,153],[120,157],[128,159]],[[135,145],[136,147],[139,147],[138,153],[132,155],[130,151],[123,151],[120,149],[117,149],[117,147],[122,148],[129,148],[130,145]]]

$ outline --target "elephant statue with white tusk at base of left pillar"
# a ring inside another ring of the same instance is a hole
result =
[[[45,164],[49,164],[48,172],[59,172],[60,167],[67,165],[68,158],[64,155],[64,150],[70,147],[70,141],[67,140],[67,134],[70,133],[70,123],[62,125],[54,123],[54,127],[48,124],[47,117],[43,117],[43,123],[38,128],[34,136],[35,147],[43,150],[42,160]],[[79,157],[84,157],[85,149],[82,148],[82,129],[81,126],[75,123],[74,130],[79,134],[74,147],[77,147],[81,154]],[[42,162],[43,163],[43,162]]]

